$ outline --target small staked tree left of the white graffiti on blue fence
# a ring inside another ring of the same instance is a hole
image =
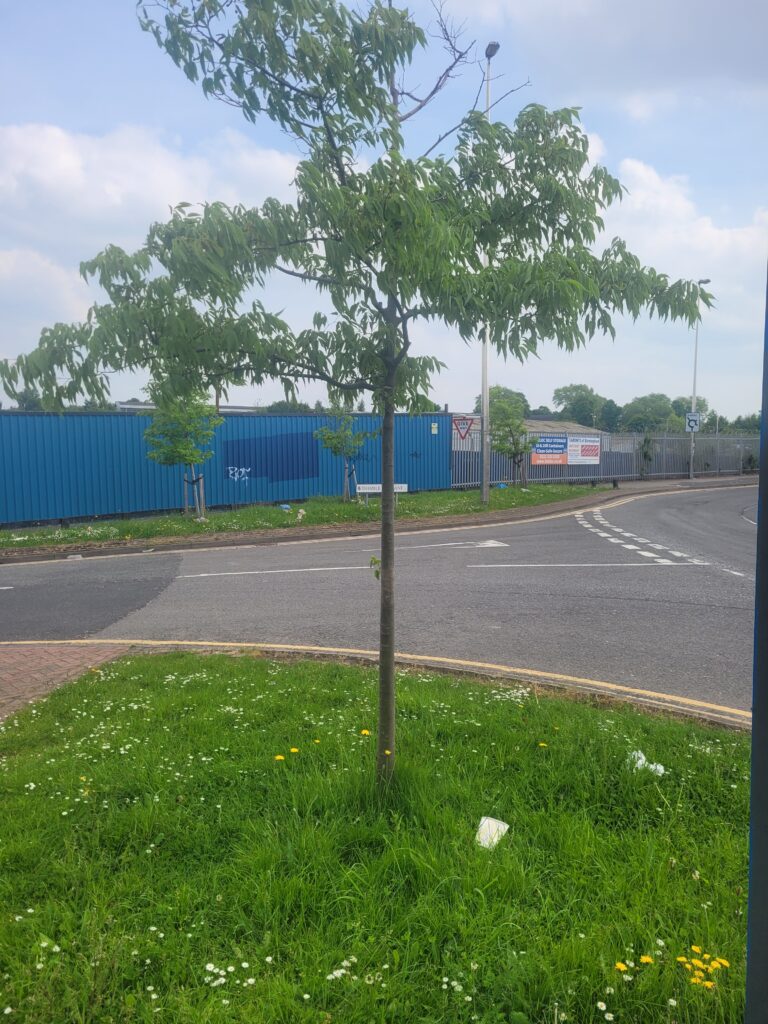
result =
[[[155,409],[152,423],[144,431],[150,446],[147,458],[161,466],[184,466],[189,469],[195,512],[198,519],[206,514],[203,474],[198,476],[198,463],[213,455],[208,445],[216,427],[223,419],[202,391],[187,392],[182,398],[169,397],[158,384],[150,384],[150,399]],[[186,511],[186,478],[184,478],[184,511]]]

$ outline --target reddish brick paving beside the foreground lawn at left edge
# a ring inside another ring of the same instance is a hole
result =
[[[110,645],[0,644],[0,720],[96,665],[127,654]]]

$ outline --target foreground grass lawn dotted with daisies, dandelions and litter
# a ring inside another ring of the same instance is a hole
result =
[[[369,670],[136,656],[6,722],[0,1015],[740,1020],[748,736],[425,673],[398,692],[382,796]],[[493,851],[483,814],[510,824]]]

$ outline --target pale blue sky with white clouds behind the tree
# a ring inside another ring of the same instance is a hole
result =
[[[108,244],[138,247],[179,202],[256,205],[288,200],[297,154],[266,119],[205,99],[138,27],[132,0],[0,0],[0,357],[33,349],[40,331],[82,318],[97,299],[79,275]],[[429,28],[428,4],[412,6]],[[579,106],[594,161],[627,187],[606,216],[672,278],[711,279],[699,328],[697,392],[733,417],[761,398],[768,257],[768,5],[761,0],[446,0],[464,40],[500,44],[493,89],[525,84],[494,110],[509,123],[525,103]],[[424,88],[439,52],[417,54],[410,84]],[[474,98],[470,66],[418,120],[436,138]],[[413,139],[412,139],[413,141]],[[605,241],[605,240],[604,240]],[[311,291],[269,283],[263,301],[295,327],[319,304]],[[662,391],[691,393],[693,332],[621,319],[615,341],[577,353],[545,345],[521,365],[492,354],[489,379],[551,406],[565,384],[588,384],[620,404]],[[415,348],[445,369],[432,397],[469,411],[480,349],[438,325]],[[115,399],[140,396],[140,375],[115,375]],[[229,401],[265,404],[280,384],[238,388]],[[1,395],[0,395],[1,397]],[[307,385],[305,400],[325,400]],[[5,402],[7,407],[7,402]]]

